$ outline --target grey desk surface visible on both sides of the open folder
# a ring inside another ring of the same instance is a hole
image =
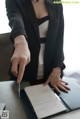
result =
[[[23,103],[18,97],[17,84],[14,81],[0,82],[0,102],[6,104],[6,109],[9,110],[9,119],[28,119]],[[80,119],[80,109],[50,119],[71,118]]]

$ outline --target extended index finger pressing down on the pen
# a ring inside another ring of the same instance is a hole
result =
[[[18,73],[18,77],[17,77],[17,83],[19,83],[23,78],[25,66],[26,66],[26,61],[22,60],[19,64],[19,73]]]

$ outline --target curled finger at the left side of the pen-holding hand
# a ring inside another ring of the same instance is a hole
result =
[[[11,60],[11,62],[12,62],[11,72],[14,76],[17,76],[19,61],[17,58],[14,58],[13,60]]]

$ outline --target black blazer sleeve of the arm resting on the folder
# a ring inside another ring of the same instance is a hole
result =
[[[57,42],[56,42],[56,48],[55,48],[54,67],[61,67],[61,69],[64,69],[65,68],[65,65],[63,63],[64,61],[64,53],[63,53],[64,17],[63,17],[63,7],[61,4],[59,5],[58,10],[60,11],[60,19],[59,19]]]

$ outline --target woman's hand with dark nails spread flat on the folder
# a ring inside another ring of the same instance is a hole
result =
[[[45,82],[44,85],[47,84],[51,84],[51,86],[58,92],[60,93],[60,91],[64,91],[66,93],[68,93],[68,91],[70,90],[70,88],[68,87],[67,83],[64,82],[60,76],[55,76],[54,74],[50,75],[48,80]]]

